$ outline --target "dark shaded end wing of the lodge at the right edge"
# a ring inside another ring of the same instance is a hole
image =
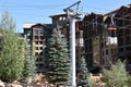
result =
[[[131,72],[131,4],[121,7],[115,15],[118,28],[117,57],[127,63],[127,70]]]

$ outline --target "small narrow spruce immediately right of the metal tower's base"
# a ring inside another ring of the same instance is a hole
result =
[[[82,86],[82,87],[91,87],[91,84],[90,84],[90,75],[88,75],[88,71],[87,71],[87,67],[86,67],[86,63],[85,63],[85,59],[82,57],[82,59],[80,60],[80,62],[78,63],[79,67],[79,83],[78,83],[78,86]]]

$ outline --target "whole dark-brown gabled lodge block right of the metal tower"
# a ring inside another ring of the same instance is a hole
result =
[[[90,71],[110,67],[118,59],[131,71],[131,4],[83,18],[85,59]]]

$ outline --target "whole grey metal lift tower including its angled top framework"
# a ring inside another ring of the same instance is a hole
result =
[[[79,4],[81,1],[75,2],[74,4],[63,9],[63,11],[68,14],[68,18],[70,21],[70,59],[71,59],[71,85],[72,87],[76,87],[76,66],[75,66],[75,22],[76,17],[80,14]],[[71,8],[76,5],[76,11]]]

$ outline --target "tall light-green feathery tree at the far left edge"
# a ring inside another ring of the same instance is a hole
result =
[[[2,15],[0,32],[0,78],[12,82],[22,77],[24,59],[23,45],[14,33],[14,23],[8,12]]]

